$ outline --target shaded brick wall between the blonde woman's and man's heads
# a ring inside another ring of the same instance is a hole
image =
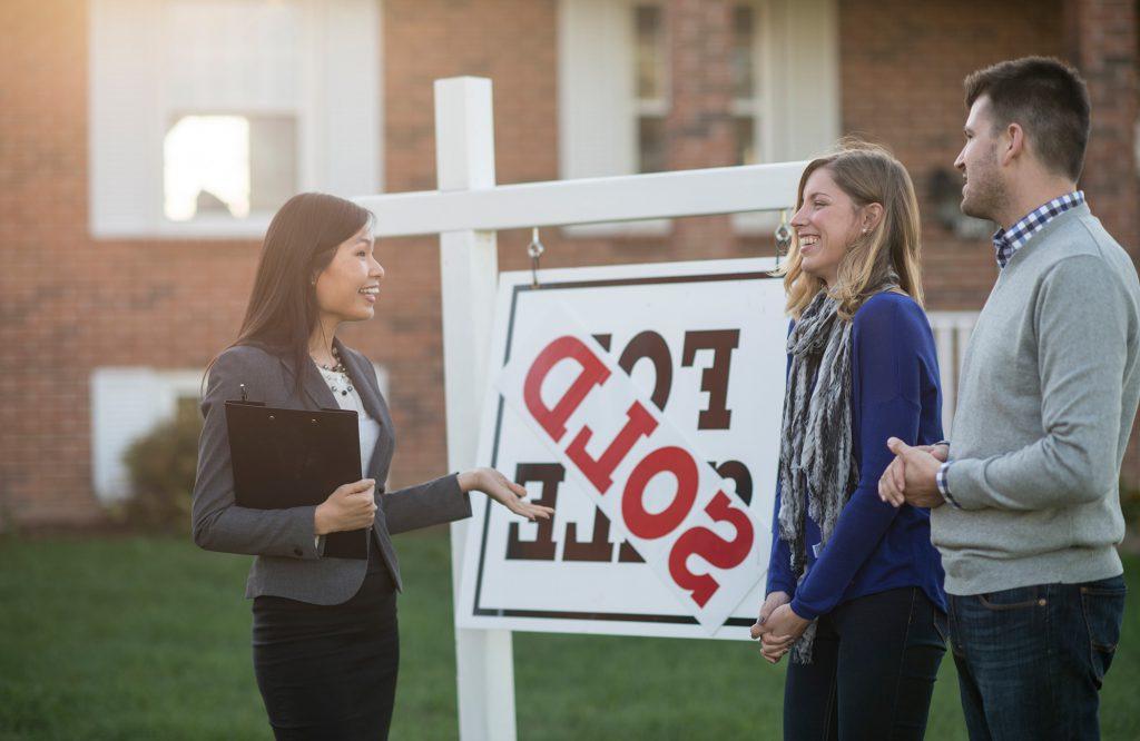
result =
[[[1029,54],[1059,55],[1060,2],[840,2],[844,129],[890,146],[921,199],[925,284],[934,309],[978,309],[997,276],[987,239],[934,218],[937,170],[962,147],[962,79]]]

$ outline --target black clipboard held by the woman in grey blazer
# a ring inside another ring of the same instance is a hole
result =
[[[351,409],[279,409],[227,401],[226,427],[238,506],[317,505],[360,480],[360,427]],[[367,559],[368,528],[325,536],[326,557]]]

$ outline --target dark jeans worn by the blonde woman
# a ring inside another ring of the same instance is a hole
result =
[[[812,663],[788,666],[784,739],[922,739],[945,634],[946,616],[918,587],[821,616]]]

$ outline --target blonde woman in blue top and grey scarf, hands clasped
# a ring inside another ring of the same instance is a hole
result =
[[[785,739],[921,739],[946,650],[930,514],[879,498],[887,439],[942,440],[903,165],[853,142],[808,164],[784,267],[788,386],[767,597],[752,637],[790,653]]]

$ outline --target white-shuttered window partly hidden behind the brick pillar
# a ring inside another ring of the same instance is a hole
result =
[[[836,0],[740,0],[731,8],[735,164],[808,158],[839,135]],[[811,39],[811,43],[804,43]],[[561,177],[666,169],[671,64],[660,0],[559,0]],[[738,214],[741,231],[771,218]],[[667,222],[571,234],[660,234]]]

